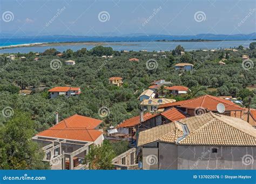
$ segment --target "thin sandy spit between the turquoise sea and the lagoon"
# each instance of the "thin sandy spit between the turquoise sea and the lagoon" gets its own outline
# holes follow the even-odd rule
[[[111,44],[110,44],[111,43]],[[115,44],[112,42],[56,42],[56,43],[31,43],[31,44],[18,44],[9,46],[0,46],[0,50],[9,48],[20,48],[20,47],[54,47],[54,46],[78,46],[78,45],[119,45],[119,46],[134,46],[138,44]]]

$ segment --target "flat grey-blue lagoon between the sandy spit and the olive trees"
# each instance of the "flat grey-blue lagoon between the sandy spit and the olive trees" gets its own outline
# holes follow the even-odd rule
[[[78,41],[78,40],[76,40]],[[225,41],[200,41],[200,42],[185,42],[185,41],[119,41],[119,42],[108,42],[104,43],[105,47],[112,47],[116,51],[126,50],[126,51],[171,51],[176,48],[177,45],[181,45],[185,48],[185,51],[193,51],[198,49],[218,49],[218,48],[231,48],[238,47],[242,45],[248,47],[250,43],[254,40],[225,40]],[[44,41],[42,40],[42,43]],[[14,43],[14,42],[12,42]],[[25,44],[16,43],[12,45]],[[31,44],[31,43],[29,43]],[[100,45],[100,43],[98,43]],[[0,43],[0,45],[4,45]],[[45,49],[54,47],[58,51],[63,52],[66,49],[72,49],[77,51],[80,48],[91,49],[97,44],[86,44],[86,45],[63,45],[63,46],[33,46],[33,47],[18,47],[18,48],[6,48],[0,50],[0,53],[29,53],[29,52],[44,52]]]

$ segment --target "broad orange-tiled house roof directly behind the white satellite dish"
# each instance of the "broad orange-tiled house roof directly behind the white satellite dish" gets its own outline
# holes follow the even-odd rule
[[[199,113],[199,111],[200,111],[200,114],[206,113],[209,111],[218,112],[217,105],[219,103],[224,104],[225,106],[224,114],[227,116],[241,117],[242,111],[244,111],[243,108],[233,103],[232,101],[225,100],[223,98],[219,98],[211,95],[203,95],[197,98],[192,98],[190,100],[184,100],[184,101],[179,101],[174,103],[166,103],[163,105],[159,105],[158,108],[169,109],[171,107],[176,107],[177,109],[184,111],[186,114],[190,116],[195,116]]]

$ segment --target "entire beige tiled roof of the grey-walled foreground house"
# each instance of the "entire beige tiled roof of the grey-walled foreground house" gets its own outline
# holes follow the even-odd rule
[[[188,131],[183,132],[182,126]],[[242,119],[208,112],[139,133],[138,146],[154,141],[183,145],[256,146],[256,129]]]

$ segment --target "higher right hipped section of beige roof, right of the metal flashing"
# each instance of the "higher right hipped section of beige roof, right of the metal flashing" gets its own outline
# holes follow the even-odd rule
[[[187,125],[189,134],[178,144],[256,146],[256,129],[239,118],[209,112],[179,122]]]

